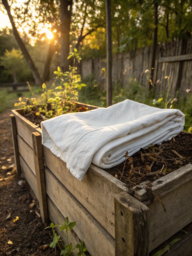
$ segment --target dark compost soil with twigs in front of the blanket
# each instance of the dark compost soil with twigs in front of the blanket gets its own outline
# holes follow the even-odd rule
[[[192,163],[192,134],[181,132],[170,141],[141,149],[131,157],[128,153],[126,162],[106,171],[132,188],[145,180],[154,181],[188,163]]]

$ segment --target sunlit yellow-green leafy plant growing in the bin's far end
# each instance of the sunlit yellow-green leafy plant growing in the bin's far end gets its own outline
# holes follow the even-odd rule
[[[60,68],[54,72],[56,75],[50,89],[46,84],[42,84],[42,94],[39,99],[36,97],[28,83],[29,90],[32,93],[32,98],[20,97],[19,102],[14,106],[21,106],[25,113],[33,113],[41,117],[43,120],[58,116],[61,114],[78,111],[75,102],[78,100],[78,90],[85,87],[85,84],[80,83],[81,76],[77,74],[75,60],[81,60],[77,49],[70,52],[68,58],[73,57],[73,66],[69,66],[69,71],[62,72]]]

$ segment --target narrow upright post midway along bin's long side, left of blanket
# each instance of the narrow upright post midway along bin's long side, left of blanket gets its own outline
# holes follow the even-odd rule
[[[45,187],[45,173],[43,164],[43,147],[41,144],[41,135],[38,132],[32,133],[33,155],[35,161],[35,172],[37,178],[37,188],[39,197],[39,208],[43,223],[48,222],[47,198]]]

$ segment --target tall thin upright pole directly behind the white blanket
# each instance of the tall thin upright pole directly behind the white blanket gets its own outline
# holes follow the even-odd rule
[[[112,105],[112,40],[111,40],[111,0],[106,0],[107,36],[107,107]]]

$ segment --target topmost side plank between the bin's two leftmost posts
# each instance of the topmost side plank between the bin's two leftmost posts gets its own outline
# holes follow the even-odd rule
[[[12,113],[16,118],[17,134],[19,134],[19,136],[32,148],[32,133],[38,132],[41,134],[41,128],[23,117],[20,114],[22,113],[22,110],[12,110]]]

